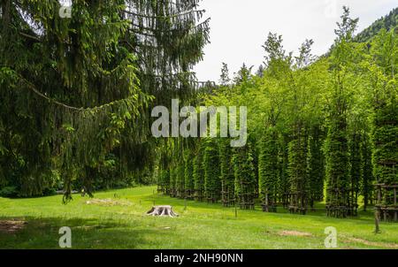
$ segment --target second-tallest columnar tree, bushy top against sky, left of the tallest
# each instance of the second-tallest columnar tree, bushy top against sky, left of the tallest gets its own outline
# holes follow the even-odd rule
[[[282,77],[290,72],[290,55],[286,55],[282,45],[282,37],[268,34],[263,48],[265,50],[265,71],[261,78],[260,89],[265,99],[262,101],[265,116],[260,125],[261,140],[258,146],[258,184],[259,194],[264,211],[276,211],[279,189],[279,133],[278,124],[283,106],[287,100],[287,82]]]

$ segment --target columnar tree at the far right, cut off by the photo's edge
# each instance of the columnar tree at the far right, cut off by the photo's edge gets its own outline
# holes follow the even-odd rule
[[[385,220],[398,220],[396,191],[398,186],[398,92],[395,72],[398,63],[398,37],[394,30],[382,30],[371,46],[373,107],[373,170],[378,184],[377,207]]]

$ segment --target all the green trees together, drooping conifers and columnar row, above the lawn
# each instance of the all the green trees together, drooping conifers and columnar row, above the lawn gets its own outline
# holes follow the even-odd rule
[[[398,9],[357,33],[345,6],[322,56],[316,40],[290,52],[269,33],[257,70],[231,74],[224,63],[218,81],[201,82],[193,67],[210,19],[200,2],[76,0],[65,19],[58,1],[2,1],[0,197],[60,193],[67,206],[77,195],[156,185],[185,209],[374,210],[398,222]],[[232,147],[231,132],[152,136],[151,111],[172,99],[247,107],[246,145]]]

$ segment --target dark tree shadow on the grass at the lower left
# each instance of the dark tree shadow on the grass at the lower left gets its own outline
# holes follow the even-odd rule
[[[58,231],[63,226],[72,230],[73,248],[134,249],[145,246],[148,242],[145,238],[165,234],[158,229],[134,229],[134,225],[112,219],[0,217],[0,222],[5,220],[25,221],[26,224],[18,231],[1,231],[0,249],[59,248],[62,234]]]

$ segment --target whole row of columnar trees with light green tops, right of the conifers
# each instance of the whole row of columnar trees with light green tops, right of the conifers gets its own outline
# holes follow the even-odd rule
[[[221,86],[201,104],[247,106],[248,145],[230,148],[227,140],[204,138],[176,146],[173,165],[194,171],[164,166],[161,189],[242,209],[253,208],[258,197],[264,211],[280,205],[301,214],[325,199],[328,216],[347,217],[356,215],[360,197],[366,209],[376,197],[374,184],[383,184],[377,204],[393,217],[396,29],[356,42],[358,19],[348,8],[341,19],[327,57],[311,55],[311,40],[294,56],[281,36],[269,34],[264,71],[252,75],[243,65],[231,83],[223,65]]]

